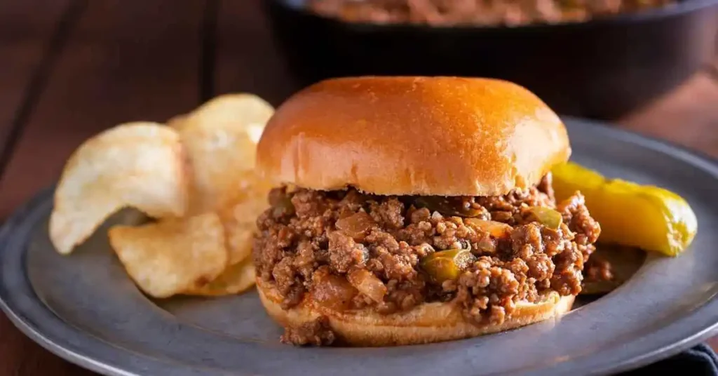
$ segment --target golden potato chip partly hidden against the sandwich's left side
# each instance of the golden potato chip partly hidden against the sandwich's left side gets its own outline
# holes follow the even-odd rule
[[[243,174],[238,188],[230,203],[218,210],[225,227],[229,265],[251,255],[256,219],[269,207],[267,195],[271,186],[254,171],[248,171]]]

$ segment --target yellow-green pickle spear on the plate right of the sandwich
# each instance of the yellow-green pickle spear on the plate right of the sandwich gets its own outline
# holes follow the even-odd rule
[[[684,198],[653,185],[607,179],[574,162],[557,165],[554,177],[556,200],[576,191],[601,225],[598,242],[638,247],[675,257],[693,241],[698,221]]]

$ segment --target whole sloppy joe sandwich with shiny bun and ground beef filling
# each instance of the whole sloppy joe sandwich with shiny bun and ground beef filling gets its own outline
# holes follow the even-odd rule
[[[276,110],[256,167],[274,180],[253,247],[258,292],[292,344],[391,346],[569,311],[600,234],[571,155],[526,88],[452,77],[337,78]]]

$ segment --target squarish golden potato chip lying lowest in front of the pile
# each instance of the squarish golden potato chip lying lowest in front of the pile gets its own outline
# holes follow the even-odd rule
[[[154,298],[207,285],[227,265],[224,229],[214,213],[113,226],[109,236],[127,273]]]

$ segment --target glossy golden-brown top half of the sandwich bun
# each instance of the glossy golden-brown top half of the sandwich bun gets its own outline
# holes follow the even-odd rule
[[[257,167],[278,183],[317,190],[496,196],[538,183],[570,154],[559,116],[514,83],[337,78],[279,106]]]

